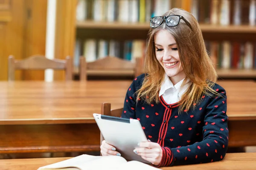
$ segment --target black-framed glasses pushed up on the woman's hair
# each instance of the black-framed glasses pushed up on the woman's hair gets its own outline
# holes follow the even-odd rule
[[[150,18],[150,27],[151,28],[157,28],[163,23],[163,20],[166,20],[167,26],[177,26],[180,23],[180,19],[183,19],[185,23],[192,29],[189,21],[187,21],[183,16],[181,15],[169,15],[169,16],[156,16]]]

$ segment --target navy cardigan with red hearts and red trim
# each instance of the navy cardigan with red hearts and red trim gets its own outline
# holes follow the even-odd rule
[[[195,109],[178,115],[179,104],[160,102],[147,104],[137,101],[145,74],[134,79],[125,96],[122,118],[138,119],[147,138],[160,144],[163,157],[159,167],[219,161],[224,158],[228,144],[227,97],[225,90],[215,84],[221,97],[203,95]]]

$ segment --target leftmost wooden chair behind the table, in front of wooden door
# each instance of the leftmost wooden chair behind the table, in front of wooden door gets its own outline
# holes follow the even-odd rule
[[[11,55],[8,58],[8,80],[15,80],[16,69],[64,69],[65,79],[72,80],[73,61],[67,56],[66,60],[50,60],[42,55],[34,55],[24,60],[15,60]]]

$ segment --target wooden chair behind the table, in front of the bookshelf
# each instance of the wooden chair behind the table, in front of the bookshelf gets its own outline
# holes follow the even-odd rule
[[[117,57],[107,56],[93,62],[86,62],[85,57],[80,57],[80,80],[87,80],[87,75],[134,75],[141,74],[142,59],[136,58],[136,62],[123,60]]]

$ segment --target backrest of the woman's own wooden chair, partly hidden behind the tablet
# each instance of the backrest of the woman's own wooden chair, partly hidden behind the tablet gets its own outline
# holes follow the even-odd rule
[[[123,110],[123,108],[111,109],[110,103],[102,103],[102,106],[101,106],[101,114],[102,115],[121,117],[122,110]],[[104,138],[102,136],[102,133],[100,133],[100,144],[102,144],[103,140],[104,140]]]

